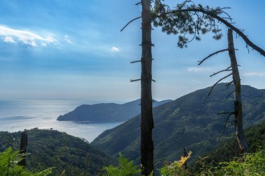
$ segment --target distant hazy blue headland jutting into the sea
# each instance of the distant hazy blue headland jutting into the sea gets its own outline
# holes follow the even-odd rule
[[[153,107],[172,102],[171,99],[153,100]],[[140,99],[125,104],[83,104],[74,111],[60,115],[59,121],[124,122],[140,113]]]

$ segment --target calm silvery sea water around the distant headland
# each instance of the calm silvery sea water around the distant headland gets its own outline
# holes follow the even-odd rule
[[[73,111],[82,102],[75,101],[0,101],[0,131],[22,131],[24,129],[56,129],[67,134],[93,141],[106,129],[121,123],[60,122],[59,115]]]

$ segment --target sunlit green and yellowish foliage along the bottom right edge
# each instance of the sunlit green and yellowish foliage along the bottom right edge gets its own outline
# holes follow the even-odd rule
[[[161,176],[222,176],[222,175],[265,175],[265,150],[255,153],[245,154],[245,157],[234,158],[229,162],[220,162],[217,166],[209,164],[209,157],[204,157],[197,161],[200,165],[199,172],[190,173],[180,164],[180,161],[165,163],[160,169]]]

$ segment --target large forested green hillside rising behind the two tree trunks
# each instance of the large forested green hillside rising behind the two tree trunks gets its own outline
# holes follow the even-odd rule
[[[183,148],[191,150],[194,158],[209,152],[216,145],[216,138],[223,129],[226,115],[222,111],[233,111],[234,100],[227,95],[232,92],[225,83],[205,98],[210,88],[197,90],[179,99],[153,109],[155,128],[153,131],[155,161],[174,161],[183,154]],[[265,120],[265,90],[242,86],[244,127],[257,125]],[[91,144],[116,156],[122,152],[139,162],[139,115],[122,125],[100,134]],[[231,134],[234,127],[229,127]]]

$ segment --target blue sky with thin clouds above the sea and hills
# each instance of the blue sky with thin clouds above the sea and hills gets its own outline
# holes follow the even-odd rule
[[[166,0],[170,6],[181,1]],[[194,1],[211,7],[231,7],[234,26],[265,49],[263,0]],[[141,15],[137,1],[124,0],[0,0],[0,99],[65,99],[86,102],[128,102],[140,97]],[[222,26],[222,24],[220,24]],[[212,86],[225,74],[209,77],[229,66],[227,53],[197,61],[227,48],[222,40],[202,35],[185,49],[176,35],[152,31],[153,98],[176,99]],[[241,82],[265,88],[265,58],[234,39]],[[225,81],[231,81],[232,78]]]

